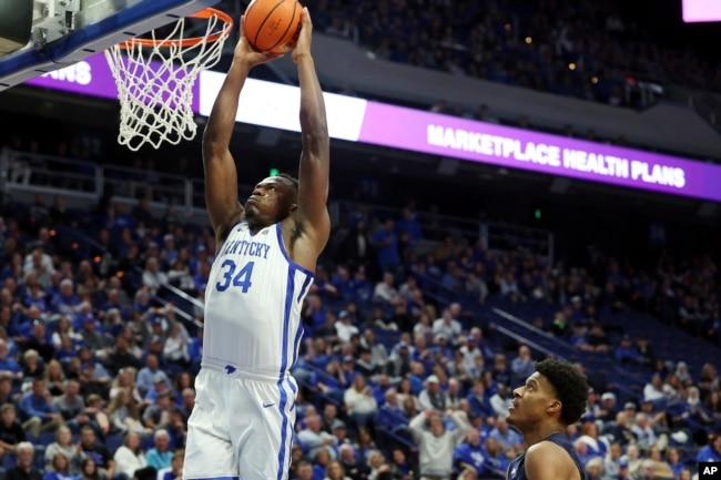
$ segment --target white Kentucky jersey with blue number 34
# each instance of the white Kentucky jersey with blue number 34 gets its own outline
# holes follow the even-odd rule
[[[253,234],[237,223],[216,253],[205,290],[203,365],[275,377],[297,358],[313,273],[293,262],[281,224]]]

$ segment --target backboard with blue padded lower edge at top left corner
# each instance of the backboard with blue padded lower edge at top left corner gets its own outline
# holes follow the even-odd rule
[[[0,91],[74,64],[220,0],[29,0],[30,42],[0,54]]]

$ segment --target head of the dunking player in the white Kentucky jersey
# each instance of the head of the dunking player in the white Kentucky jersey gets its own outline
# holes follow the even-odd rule
[[[245,215],[262,224],[273,224],[285,218],[295,206],[294,188],[283,177],[271,176],[261,181],[245,202]]]

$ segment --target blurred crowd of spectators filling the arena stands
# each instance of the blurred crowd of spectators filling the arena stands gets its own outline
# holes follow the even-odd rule
[[[719,85],[718,63],[612,2],[309,7],[318,31],[379,59],[620,108],[647,106],[628,89],[634,79]],[[439,113],[522,119],[441,98]],[[200,159],[110,159],[98,139],[69,132],[3,133],[3,177],[24,190],[0,197],[1,474],[176,479],[215,243],[162,175],[202,183]],[[82,180],[63,176],[63,159],[132,167],[78,202]],[[502,479],[525,448],[505,420],[512,389],[548,356],[588,376],[587,410],[567,433],[590,479],[691,479],[699,461],[721,461],[712,238],[611,227],[554,245],[522,218],[481,207],[459,218],[457,200],[436,197],[449,185],[418,180],[410,195],[392,176],[344,181],[355,190],[333,192],[334,232],[303,308],[292,479]]]

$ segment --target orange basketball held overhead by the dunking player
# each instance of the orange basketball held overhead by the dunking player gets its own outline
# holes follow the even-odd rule
[[[261,52],[286,52],[298,41],[302,14],[297,0],[253,0],[245,9],[245,37]]]

